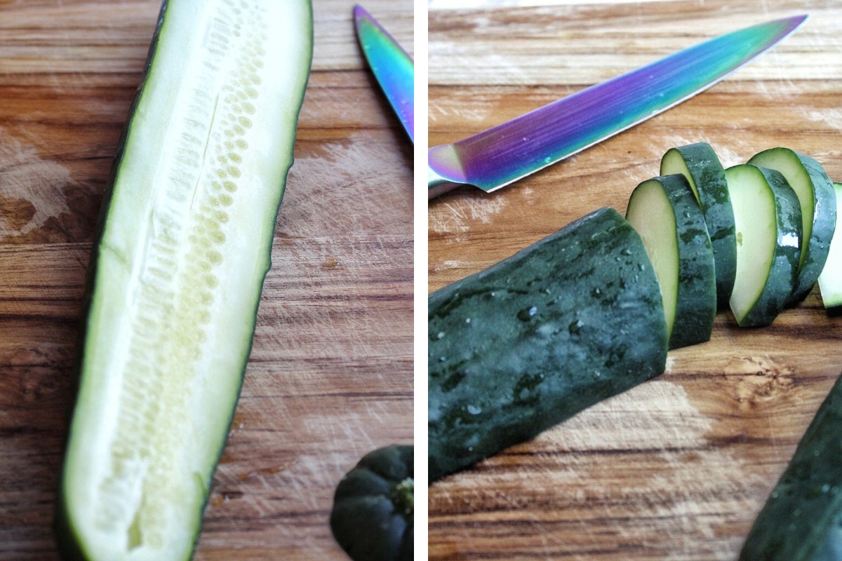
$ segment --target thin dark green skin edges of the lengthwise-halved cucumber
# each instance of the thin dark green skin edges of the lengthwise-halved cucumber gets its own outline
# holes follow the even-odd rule
[[[131,131],[132,125],[132,117],[136,112],[137,106],[141,101],[141,97],[143,94],[143,86],[147,82],[147,78],[149,77],[149,72],[152,68],[152,61],[154,59],[155,53],[158,49],[158,40],[160,39],[161,31],[163,29],[163,25],[166,18],[167,8],[170,3],[173,3],[176,0],[162,0],[161,8],[158,10],[157,14],[157,22],[155,25],[155,30],[152,33],[152,39],[150,40],[149,50],[147,51],[147,59],[144,62],[143,70],[141,71],[141,78],[138,82],[138,86],[134,95],[132,96],[131,103],[129,105],[128,110],[128,117],[126,119],[125,125],[123,130],[120,132],[120,139],[117,143],[117,148],[115,151],[115,157],[111,164],[111,169],[109,172],[109,180],[105,186],[104,193],[103,193],[103,200],[100,204],[99,214],[97,218],[97,223],[95,227],[95,234],[94,234],[94,241],[93,241],[93,249],[91,251],[91,257],[88,261],[88,267],[85,270],[85,278],[84,278],[84,291],[82,296],[82,322],[80,324],[80,330],[78,335],[77,341],[77,356],[74,359],[74,372],[77,374],[76,377],[73,379],[73,393],[78,394],[79,386],[81,383],[81,379],[79,374],[82,372],[82,360],[83,360],[83,353],[82,350],[84,348],[84,341],[88,331],[88,315],[93,303],[93,294],[96,288],[96,283],[94,282],[96,278],[96,270],[97,270],[97,263],[99,261],[99,247],[101,242],[103,241],[104,232],[105,232],[105,223],[106,219],[108,218],[109,214],[109,207],[111,204],[111,200],[114,196],[114,189],[115,189],[115,182],[117,178],[117,174],[120,171],[120,161],[123,160],[125,156],[125,142],[128,139],[129,133]],[[310,12],[310,29],[309,29],[309,49],[310,49],[310,60],[307,62],[307,76],[309,77],[310,71],[312,69],[312,45],[314,41],[314,31],[312,27],[312,2],[308,0],[307,2],[307,9]],[[301,98],[297,102],[297,106],[295,108],[295,118],[294,124],[297,127],[298,115],[301,110],[301,106],[304,103],[304,90],[305,87],[301,90]],[[279,155],[281,156],[281,155]],[[289,154],[282,155],[289,158],[290,166],[291,162],[293,161],[293,154],[290,152]],[[280,192],[280,196],[278,198],[277,207],[274,210],[274,221],[273,224],[277,223],[278,214],[280,213],[280,206],[283,201],[285,193],[285,188]],[[271,259],[271,247],[269,247],[269,251],[266,253],[266,262],[265,267],[261,271],[262,277],[260,278],[261,287],[265,281],[266,275],[269,273],[269,270],[272,266],[272,259]],[[262,288],[261,288],[262,292]],[[237,390],[237,396],[235,400],[235,404],[239,401],[239,393],[242,391],[242,382],[245,378],[246,367],[248,365],[248,356],[251,355],[252,345],[253,345],[253,330],[254,326],[257,325],[257,313],[258,313],[258,305],[259,302],[255,305],[254,308],[254,325],[252,326],[252,336],[249,337],[248,349],[246,349],[245,356],[247,360],[242,365],[242,372],[240,373],[240,385]],[[236,406],[236,405],[235,405]],[[75,405],[74,408],[75,409]],[[220,415],[227,415],[229,424],[233,421],[235,410],[232,409],[231,411],[221,411]],[[72,425],[72,413],[73,410],[68,412],[67,417],[67,426]],[[65,438],[65,453],[64,457],[67,457],[67,447],[70,444],[70,431],[67,432],[67,436]],[[216,464],[219,463],[219,460],[222,457],[222,453],[225,451],[225,446],[227,442],[227,435],[224,435],[219,447],[219,450],[216,453],[217,460]],[[64,470],[64,466],[62,465],[62,471]],[[214,469],[216,471],[216,469]],[[205,494],[205,501],[202,505],[202,512],[207,508],[208,501],[210,500],[210,485],[212,483],[213,476],[205,481],[205,489],[209,492]],[[59,488],[56,492],[56,507],[55,513],[53,516],[53,533],[56,537],[56,545],[58,548],[58,553],[63,561],[94,561],[93,558],[84,548],[82,540],[80,540],[79,535],[77,533],[76,528],[74,527],[73,521],[67,516],[67,506],[66,497],[64,495],[64,490],[62,489],[63,486],[63,479],[60,477],[58,481]],[[200,522],[201,522],[200,517]],[[195,537],[193,546],[190,549],[190,554],[184,561],[189,561],[190,558],[193,557],[195,553],[195,549],[199,545],[199,540],[201,537],[201,527],[197,527],[195,531]]]

